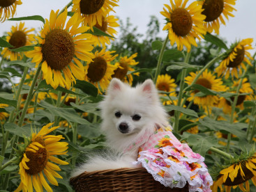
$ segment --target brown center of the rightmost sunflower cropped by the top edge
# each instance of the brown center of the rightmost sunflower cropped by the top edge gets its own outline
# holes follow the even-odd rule
[[[213,22],[215,19],[220,17],[223,13],[224,1],[223,0],[206,0],[202,6],[204,9],[202,14],[206,16],[205,22]]]

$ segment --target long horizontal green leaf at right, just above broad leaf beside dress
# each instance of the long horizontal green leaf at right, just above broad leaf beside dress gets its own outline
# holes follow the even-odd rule
[[[203,120],[199,119],[199,122],[204,126],[208,127],[209,129],[213,131],[227,131],[231,134],[234,134],[238,136],[241,139],[246,138],[246,132],[243,131],[242,129],[248,127],[246,123],[234,123],[231,124],[227,121],[224,120],[213,120],[211,118],[204,118]]]

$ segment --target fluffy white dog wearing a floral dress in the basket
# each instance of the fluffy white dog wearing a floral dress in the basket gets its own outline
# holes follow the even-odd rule
[[[190,191],[211,191],[204,157],[172,134],[153,81],[131,88],[112,79],[100,109],[110,152],[91,156],[73,177],[84,171],[143,166],[165,186],[183,188],[188,183]]]

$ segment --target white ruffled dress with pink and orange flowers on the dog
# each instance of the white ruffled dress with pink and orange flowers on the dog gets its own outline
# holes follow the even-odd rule
[[[211,191],[213,180],[204,157],[193,152],[186,143],[181,143],[172,134],[171,127],[158,127],[140,146],[135,164],[140,163],[165,186],[183,188],[188,182],[190,192]]]

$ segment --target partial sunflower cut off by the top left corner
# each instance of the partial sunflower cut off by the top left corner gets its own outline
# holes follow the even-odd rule
[[[20,0],[5,0],[0,1],[0,22],[4,22],[16,12],[17,5],[21,5],[22,1]]]

